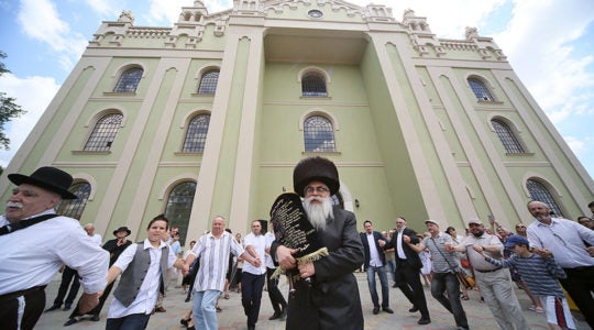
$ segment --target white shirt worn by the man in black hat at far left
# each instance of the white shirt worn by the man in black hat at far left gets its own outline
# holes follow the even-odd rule
[[[7,223],[1,216],[0,227]],[[78,272],[85,293],[106,287],[109,253],[89,240],[76,219],[55,217],[0,235],[0,295],[47,285],[64,264]]]

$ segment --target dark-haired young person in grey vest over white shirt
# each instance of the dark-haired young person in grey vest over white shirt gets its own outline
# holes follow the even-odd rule
[[[163,293],[167,270],[184,270],[167,243],[162,241],[169,222],[157,216],[146,228],[143,243],[128,246],[109,268],[108,284],[122,274],[109,306],[106,330],[142,330],[155,307],[158,293]]]

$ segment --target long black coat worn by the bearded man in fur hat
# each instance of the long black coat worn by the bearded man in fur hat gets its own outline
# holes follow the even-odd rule
[[[363,311],[353,272],[365,258],[352,212],[333,207],[334,219],[326,221],[318,240],[329,255],[314,262],[311,284],[295,283],[295,296],[288,299],[286,329],[363,329]],[[276,256],[273,242],[271,255]],[[298,271],[294,271],[297,272]]]

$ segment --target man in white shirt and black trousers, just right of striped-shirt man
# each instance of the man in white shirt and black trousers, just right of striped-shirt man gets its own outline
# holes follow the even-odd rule
[[[257,261],[257,265],[243,265],[241,273],[241,304],[248,316],[249,330],[255,329],[260,316],[262,289],[264,280],[266,280],[266,265],[263,262],[266,253],[266,239],[261,231],[262,224],[258,220],[254,220],[252,221],[252,232],[243,238],[245,251]]]

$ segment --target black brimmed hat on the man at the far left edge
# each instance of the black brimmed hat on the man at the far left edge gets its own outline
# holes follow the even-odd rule
[[[22,174],[9,174],[8,178],[16,186],[30,184],[56,193],[64,199],[78,198],[76,195],[68,191],[68,188],[73,185],[73,176],[55,167],[40,167],[33,172],[31,176]]]

